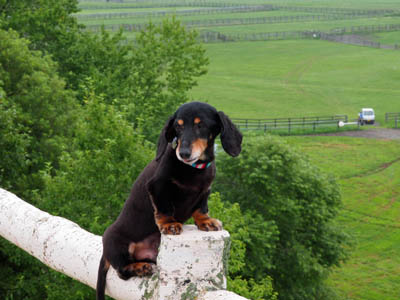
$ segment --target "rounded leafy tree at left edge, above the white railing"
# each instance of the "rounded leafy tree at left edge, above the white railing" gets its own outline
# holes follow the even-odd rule
[[[45,163],[57,165],[76,108],[50,57],[28,45],[0,29],[0,180],[25,199],[41,187]]]

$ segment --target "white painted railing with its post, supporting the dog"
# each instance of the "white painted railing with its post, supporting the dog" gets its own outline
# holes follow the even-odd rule
[[[52,216],[0,188],[0,235],[44,264],[95,288],[101,237]],[[150,278],[121,280],[110,268],[106,294],[115,299],[245,299],[226,288],[227,231],[184,226],[179,236],[162,235],[157,271]]]

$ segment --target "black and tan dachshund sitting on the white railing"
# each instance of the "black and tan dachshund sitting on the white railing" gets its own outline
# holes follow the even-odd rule
[[[121,214],[103,235],[97,299],[104,299],[110,265],[122,279],[152,274],[161,233],[180,234],[190,217],[200,230],[222,229],[220,221],[208,216],[207,205],[219,134],[224,150],[239,155],[242,135],[214,107],[191,102],[169,118],[156,158],[139,175]]]

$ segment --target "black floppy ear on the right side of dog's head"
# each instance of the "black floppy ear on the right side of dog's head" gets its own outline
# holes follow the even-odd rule
[[[218,112],[218,116],[221,122],[222,148],[230,156],[238,156],[242,150],[242,134],[222,111]]]

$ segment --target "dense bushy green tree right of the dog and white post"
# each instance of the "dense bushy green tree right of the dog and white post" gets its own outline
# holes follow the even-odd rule
[[[222,197],[251,211],[253,226],[269,222],[266,234],[271,224],[279,232],[268,245],[250,231],[243,276],[271,276],[281,299],[325,297],[323,280],[345,255],[345,235],[333,222],[341,203],[335,182],[268,136],[249,138],[239,158],[221,154],[217,162]]]

